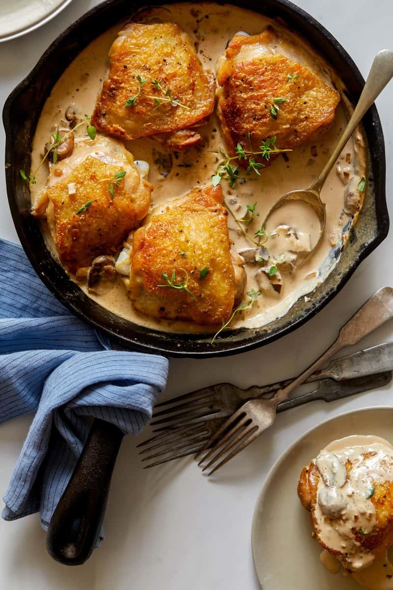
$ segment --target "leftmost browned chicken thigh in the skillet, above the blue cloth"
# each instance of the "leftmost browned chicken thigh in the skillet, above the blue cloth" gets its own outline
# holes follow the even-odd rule
[[[118,140],[97,135],[76,143],[71,156],[51,165],[44,194],[62,263],[75,273],[114,253],[146,216],[152,188]]]

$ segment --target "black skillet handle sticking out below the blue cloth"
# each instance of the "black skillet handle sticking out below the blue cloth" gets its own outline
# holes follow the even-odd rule
[[[122,439],[119,428],[94,419],[74,473],[49,523],[47,550],[56,561],[81,565],[93,552]]]

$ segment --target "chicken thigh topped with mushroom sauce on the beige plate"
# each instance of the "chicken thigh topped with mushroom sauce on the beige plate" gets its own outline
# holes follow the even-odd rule
[[[321,451],[299,478],[298,496],[312,514],[318,542],[352,571],[367,568],[393,544],[393,448],[378,442]],[[329,461],[330,476],[323,467]]]

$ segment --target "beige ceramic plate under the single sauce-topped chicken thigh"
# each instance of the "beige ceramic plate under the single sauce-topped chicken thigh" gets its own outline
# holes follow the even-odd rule
[[[393,442],[393,408],[363,408],[322,422],[278,458],[257,500],[251,532],[255,571],[263,590],[360,590],[352,578],[329,573],[311,536],[311,514],[298,499],[300,471],[326,444],[351,434]]]

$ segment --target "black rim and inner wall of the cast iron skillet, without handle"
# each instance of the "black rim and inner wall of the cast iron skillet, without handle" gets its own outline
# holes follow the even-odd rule
[[[143,5],[154,5],[156,2],[157,0],[147,0]],[[171,4],[171,0],[168,4]],[[235,1],[232,4],[237,3]],[[269,17],[283,19],[290,27],[299,31],[340,73],[351,100],[358,99],[364,84],[358,68],[344,48],[319,22],[288,0],[239,0],[238,4]],[[121,346],[170,356],[202,358],[230,355],[265,345],[295,330],[318,313],[342,289],[359,263],[388,234],[385,148],[377,109],[372,107],[364,118],[369,144],[369,181],[364,209],[358,223],[351,230],[341,259],[329,277],[312,293],[310,301],[305,302],[302,297],[290,312],[270,323],[267,329],[265,326],[263,330],[236,330],[217,339],[214,346],[210,345],[211,335],[168,335],[128,322],[87,297],[52,258],[42,238],[39,222],[29,215],[29,190],[18,171],[28,170],[30,167],[29,150],[39,114],[52,86],[65,68],[95,37],[128,17],[141,5],[130,0],[108,0],[91,9],[52,43],[31,74],[16,87],[6,101],[3,113],[6,131],[6,185],[19,240],[48,289],[72,313],[106,332]]]

